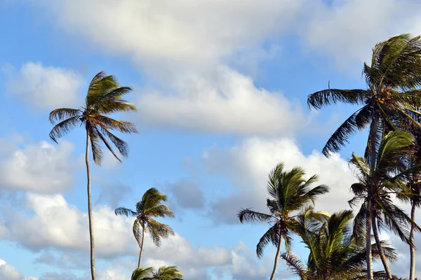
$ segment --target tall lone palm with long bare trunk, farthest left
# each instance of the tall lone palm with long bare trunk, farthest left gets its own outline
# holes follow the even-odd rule
[[[91,144],[93,161],[100,165],[102,148],[105,144],[114,157],[121,161],[114,152],[109,141],[116,146],[119,153],[126,157],[128,145],[116,137],[111,131],[122,133],[137,133],[133,123],[124,120],[109,118],[109,114],[119,111],[136,111],[136,106],[126,102],[122,97],[131,91],[130,87],[121,87],[114,76],[107,76],[104,72],[98,73],[91,81],[86,94],[85,105],[81,109],[60,108],[50,113],[50,122],[55,125],[50,132],[50,138],[58,143],[60,137],[65,136],[76,125],[83,125],[86,130],[86,174],[88,177],[88,217],[89,235],[91,241],[91,275],[95,280],[95,243],[93,238],[93,218],[91,207],[91,172],[89,166],[89,146]],[[57,123],[57,124],[56,124]]]

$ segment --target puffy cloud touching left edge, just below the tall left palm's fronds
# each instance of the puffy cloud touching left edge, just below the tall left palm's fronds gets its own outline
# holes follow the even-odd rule
[[[60,193],[73,183],[74,145],[62,141],[53,146],[46,141],[15,147],[0,161],[0,183],[3,188],[31,190],[36,193]]]

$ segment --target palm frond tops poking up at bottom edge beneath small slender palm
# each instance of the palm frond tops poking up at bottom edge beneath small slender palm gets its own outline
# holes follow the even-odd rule
[[[133,271],[131,280],[182,280],[182,273],[176,266],[161,266],[158,270],[152,267],[138,267]]]

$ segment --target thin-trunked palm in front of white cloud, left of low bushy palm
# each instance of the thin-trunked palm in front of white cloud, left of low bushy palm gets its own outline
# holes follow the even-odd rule
[[[270,280],[273,280],[276,274],[282,239],[285,242],[286,251],[289,252],[290,230],[294,228],[295,223],[294,218],[290,216],[291,212],[298,211],[309,202],[314,204],[318,195],[328,193],[328,187],[324,185],[310,188],[310,185],[317,181],[316,175],[308,180],[304,177],[305,172],[301,167],[294,167],[286,172],[283,170],[283,163],[279,163],[270,172],[267,181],[267,192],[271,196],[270,199],[267,199],[267,208],[270,214],[263,214],[251,209],[241,209],[238,214],[241,223],[266,221],[272,225],[260,238],[256,248],[258,258],[262,258],[263,249],[269,242],[277,247]]]

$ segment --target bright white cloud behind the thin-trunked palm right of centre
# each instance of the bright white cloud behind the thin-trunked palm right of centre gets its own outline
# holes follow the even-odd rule
[[[319,183],[330,186],[330,193],[316,201],[317,209],[330,212],[348,208],[349,187],[356,179],[348,163],[338,155],[325,158],[318,151],[304,155],[290,139],[247,139],[230,148],[209,148],[203,154],[209,174],[227,176],[236,189],[218,198],[211,208],[217,221],[238,223],[240,208],[265,210],[267,174],[278,162],[286,169],[300,166],[308,176],[319,175]],[[316,185],[314,185],[316,186]]]

